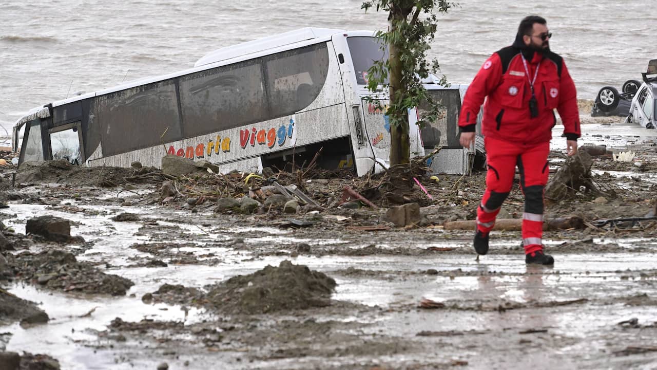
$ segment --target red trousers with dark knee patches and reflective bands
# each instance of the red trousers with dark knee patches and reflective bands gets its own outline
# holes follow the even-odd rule
[[[543,250],[543,192],[549,169],[550,143],[522,145],[484,138],[486,146],[486,192],[477,210],[477,228],[489,232],[495,217],[513,186],[516,166],[520,172],[520,189],[525,196],[522,214],[522,245],[525,253]]]

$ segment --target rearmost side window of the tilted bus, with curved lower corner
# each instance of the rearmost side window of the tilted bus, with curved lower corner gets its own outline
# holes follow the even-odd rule
[[[321,92],[328,74],[326,43],[319,43],[265,59],[271,118],[301,111]]]

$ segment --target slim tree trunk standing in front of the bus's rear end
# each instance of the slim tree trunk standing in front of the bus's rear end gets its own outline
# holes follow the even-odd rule
[[[397,11],[395,11],[397,10]],[[390,32],[398,32],[397,24],[405,22],[409,11],[407,9],[394,9],[390,14]],[[401,86],[402,79],[402,62],[399,59],[399,47],[394,42],[389,45],[389,61],[390,61],[390,106],[401,107],[403,100],[403,86]],[[401,163],[409,163],[410,160],[410,141],[409,141],[409,119],[406,109],[399,111],[399,109],[388,110],[388,115],[394,117],[392,122],[397,124],[390,125],[390,166],[399,165]]]

